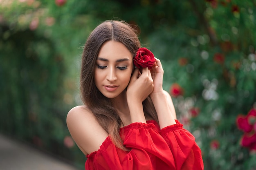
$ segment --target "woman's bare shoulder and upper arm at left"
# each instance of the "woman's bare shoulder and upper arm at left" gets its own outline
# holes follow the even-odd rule
[[[86,106],[76,106],[67,114],[67,128],[80,150],[85,154],[97,151],[108,133],[101,128]]]

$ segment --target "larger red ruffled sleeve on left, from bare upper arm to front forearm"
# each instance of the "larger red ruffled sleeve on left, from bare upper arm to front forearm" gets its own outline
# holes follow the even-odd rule
[[[86,170],[175,170],[171,150],[154,124],[133,123],[121,129],[124,146],[117,148],[109,137],[97,152],[88,155]]]

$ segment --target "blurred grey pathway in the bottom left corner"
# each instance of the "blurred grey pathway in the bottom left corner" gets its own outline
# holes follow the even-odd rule
[[[0,134],[0,170],[77,170],[68,163]]]

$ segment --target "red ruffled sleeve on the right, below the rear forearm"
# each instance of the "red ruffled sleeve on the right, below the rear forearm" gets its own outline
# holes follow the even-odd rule
[[[201,150],[195,137],[175,120],[176,124],[160,130],[160,135],[167,142],[173,154],[176,170],[203,170]]]

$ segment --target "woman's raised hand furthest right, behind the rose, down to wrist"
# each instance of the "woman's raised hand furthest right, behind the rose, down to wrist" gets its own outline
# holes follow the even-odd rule
[[[155,65],[151,68],[151,76],[153,79],[154,84],[154,90],[150,94],[150,96],[157,94],[157,93],[163,93],[163,76],[164,76],[164,70],[162,68],[162,64],[159,59],[155,58]]]

